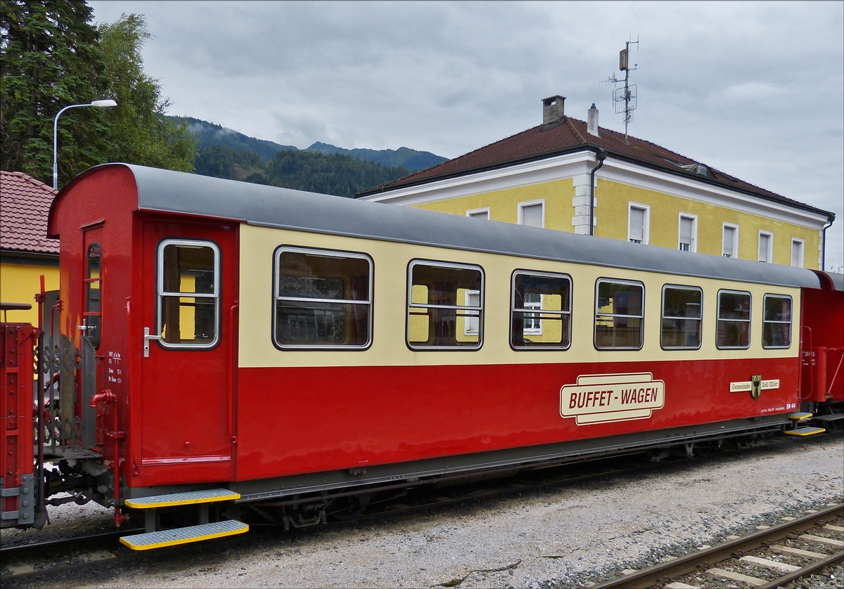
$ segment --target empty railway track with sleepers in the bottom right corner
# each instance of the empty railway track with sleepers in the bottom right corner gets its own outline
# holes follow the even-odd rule
[[[776,589],[844,561],[842,523],[844,505],[835,505],[648,569],[625,571],[594,589],[695,589],[715,580]]]

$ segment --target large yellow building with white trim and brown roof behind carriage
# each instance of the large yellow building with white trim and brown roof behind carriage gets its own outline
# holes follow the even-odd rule
[[[591,225],[592,235],[618,240],[822,267],[835,213],[654,143],[625,141],[598,127],[594,105],[583,122],[565,116],[564,104],[563,96],[544,99],[541,125],[358,197],[581,234]]]

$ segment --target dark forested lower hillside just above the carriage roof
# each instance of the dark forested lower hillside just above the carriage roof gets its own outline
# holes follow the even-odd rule
[[[343,154],[282,150],[264,162],[255,151],[236,151],[227,145],[200,149],[196,171],[203,176],[322,192],[338,197],[354,197],[356,192],[408,175],[406,168],[387,167]]]

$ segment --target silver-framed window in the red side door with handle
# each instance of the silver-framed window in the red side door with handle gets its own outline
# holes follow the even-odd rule
[[[158,328],[165,348],[213,348],[219,338],[219,248],[164,240],[158,259]]]

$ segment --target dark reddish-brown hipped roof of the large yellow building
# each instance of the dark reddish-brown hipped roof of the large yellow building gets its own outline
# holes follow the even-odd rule
[[[490,143],[480,149],[475,149],[468,154],[444,161],[427,170],[419,170],[410,176],[404,176],[398,180],[387,182],[382,186],[361,192],[359,196],[375,194],[376,192],[387,192],[404,186],[425,184],[426,182],[446,177],[468,175],[484,169],[505,167],[506,165],[514,165],[522,161],[543,159],[566,152],[581,151],[582,149],[603,149],[607,154],[623,159],[630,159],[640,164],[658,167],[661,170],[667,170],[684,176],[691,176],[696,180],[711,182],[737,189],[741,192],[749,192],[767,200],[822,213],[830,217],[833,215],[829,211],[814,208],[811,205],[783,197],[776,194],[776,192],[754,186],[749,182],[724,174],[720,170],[715,170],[708,165],[706,165],[706,168],[709,170],[707,176],[701,176],[695,173],[694,170],[685,170],[681,166],[692,166],[701,164],[701,162],[669,151],[656,143],[635,137],[630,137],[630,143],[625,143],[624,133],[611,131],[603,127],[600,127],[598,132],[600,134],[599,137],[590,135],[587,133],[586,122],[566,116],[565,120],[556,126],[538,125],[532,127],[527,129],[527,131],[522,131],[516,135],[511,135],[511,137]]]

